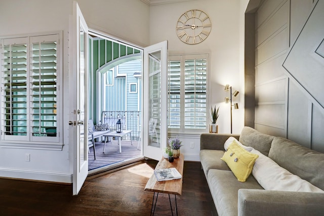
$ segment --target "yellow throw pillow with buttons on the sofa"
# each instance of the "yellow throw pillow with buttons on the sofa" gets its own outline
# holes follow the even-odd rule
[[[240,147],[234,140],[221,159],[227,163],[239,182],[245,182],[258,157],[259,155],[252,154]]]

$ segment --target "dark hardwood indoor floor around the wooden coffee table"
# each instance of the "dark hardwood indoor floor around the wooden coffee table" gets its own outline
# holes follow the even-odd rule
[[[89,177],[77,196],[71,185],[0,179],[0,215],[150,215],[153,193],[144,187],[156,163]],[[179,215],[217,215],[200,163],[185,162],[183,176]],[[154,215],[171,215],[168,195],[158,196]]]

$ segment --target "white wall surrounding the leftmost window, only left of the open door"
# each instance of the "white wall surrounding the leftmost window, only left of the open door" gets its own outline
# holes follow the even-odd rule
[[[63,30],[63,44],[66,44],[68,20],[71,12],[72,3],[64,0],[1,1],[0,35],[23,35]],[[64,47],[66,48],[65,45]],[[63,76],[67,76],[67,52],[64,52],[63,58]],[[65,83],[68,83],[67,81],[64,80]],[[64,106],[68,104],[65,103],[66,99],[63,101]],[[68,107],[66,108],[68,109]],[[67,112],[65,112],[65,116],[66,114]],[[28,147],[0,148],[0,176],[70,182],[71,171],[69,169],[67,135],[68,133],[63,134],[65,146],[63,146],[62,151]],[[30,154],[30,162],[25,161],[25,154]]]

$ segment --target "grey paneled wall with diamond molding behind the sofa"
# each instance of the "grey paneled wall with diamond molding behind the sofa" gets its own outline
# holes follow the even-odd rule
[[[265,0],[255,12],[255,128],[324,152],[322,5]]]

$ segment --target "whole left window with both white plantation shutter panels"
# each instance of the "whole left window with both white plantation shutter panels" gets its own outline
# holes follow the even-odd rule
[[[1,39],[1,140],[59,142],[59,34]]]

